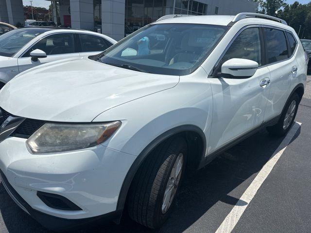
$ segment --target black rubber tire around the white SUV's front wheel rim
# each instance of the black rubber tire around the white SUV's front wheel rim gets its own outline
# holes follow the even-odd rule
[[[173,195],[168,210],[162,213],[164,192],[174,163],[182,153],[181,177],[178,184],[175,185],[178,191],[185,173],[187,151],[186,140],[180,136],[173,137],[161,143],[143,161],[133,179],[127,200],[128,213],[134,221],[152,229],[164,224],[169,217],[176,197]]]

